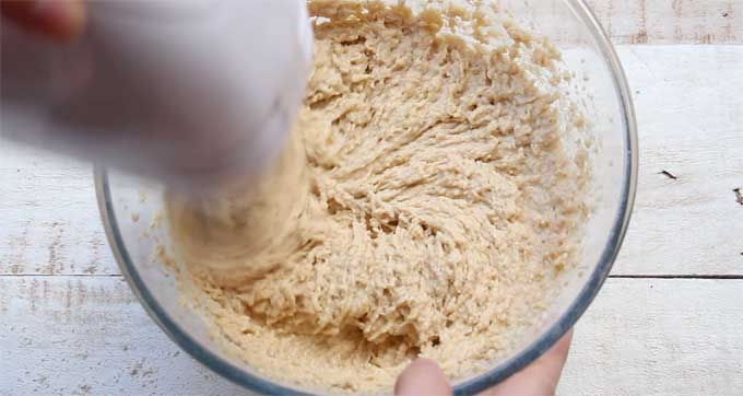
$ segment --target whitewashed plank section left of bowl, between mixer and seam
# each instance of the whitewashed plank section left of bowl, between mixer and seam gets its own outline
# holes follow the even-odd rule
[[[0,140],[0,273],[120,273],[90,165]]]

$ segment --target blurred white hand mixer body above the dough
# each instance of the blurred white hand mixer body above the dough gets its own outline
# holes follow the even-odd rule
[[[87,15],[71,44],[3,23],[0,137],[188,190],[281,153],[311,66],[304,0],[90,1]]]

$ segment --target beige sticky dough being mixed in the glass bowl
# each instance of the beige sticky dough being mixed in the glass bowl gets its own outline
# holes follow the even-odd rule
[[[315,70],[259,187],[169,198],[219,337],[274,378],[370,391],[509,352],[576,261],[570,74],[497,9],[312,1]],[[567,153],[571,154],[568,155]]]

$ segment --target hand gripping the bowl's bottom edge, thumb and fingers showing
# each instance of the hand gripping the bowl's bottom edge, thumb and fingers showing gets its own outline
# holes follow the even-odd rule
[[[531,365],[514,374],[503,383],[483,392],[484,396],[554,395],[563,365],[570,349],[573,330],[569,330],[552,349]],[[451,395],[451,385],[441,369],[428,359],[411,363],[394,384],[398,396]]]

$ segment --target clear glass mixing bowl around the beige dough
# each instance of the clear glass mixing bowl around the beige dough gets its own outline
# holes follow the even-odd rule
[[[457,394],[483,391],[523,369],[573,327],[599,292],[624,237],[637,178],[637,136],[629,90],[612,45],[582,0],[504,0],[516,20],[550,36],[568,67],[582,77],[583,94],[597,108],[592,115],[598,142],[593,158],[591,199],[595,205],[586,224],[578,268],[541,322],[526,331],[509,356],[488,370],[453,384]],[[184,350],[211,370],[267,394],[307,393],[258,372],[226,353],[210,337],[205,319],[181,302],[173,268],[164,265],[167,246],[162,187],[128,176],[95,171],[101,216],[114,255],[142,305]]]

